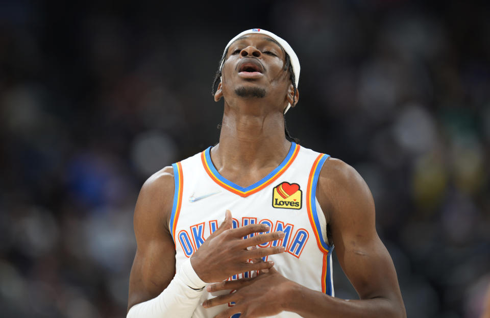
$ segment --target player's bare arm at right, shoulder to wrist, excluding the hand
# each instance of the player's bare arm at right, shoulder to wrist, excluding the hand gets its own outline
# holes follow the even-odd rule
[[[335,251],[360,300],[341,300],[296,285],[292,311],[304,317],[405,317],[395,266],[375,228],[375,208],[364,180],[336,159],[325,162],[317,199],[326,211]],[[309,306],[311,304],[311,306]]]

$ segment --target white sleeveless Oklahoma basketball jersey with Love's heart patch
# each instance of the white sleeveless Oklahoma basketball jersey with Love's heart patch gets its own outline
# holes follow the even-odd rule
[[[218,228],[225,211],[230,210],[234,228],[263,223],[270,231],[283,231],[283,239],[259,246],[284,246],[284,253],[268,256],[267,260],[273,260],[284,277],[333,296],[333,246],[327,244],[325,216],[315,197],[318,175],[329,156],[292,142],[276,169],[244,188],[219,175],[211,162],[210,150],[211,147],[173,164],[175,194],[169,228],[176,247],[176,270]],[[241,273],[230,279],[255,275]],[[192,317],[210,318],[233,306],[206,309],[201,305],[227,292],[230,291],[205,291]],[[299,315],[282,312],[275,317]]]

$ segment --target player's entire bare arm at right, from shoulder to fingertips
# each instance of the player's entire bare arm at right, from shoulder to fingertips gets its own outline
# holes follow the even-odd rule
[[[235,312],[249,318],[281,311],[303,317],[406,317],[395,267],[376,233],[373,198],[359,174],[340,160],[327,160],[316,198],[325,211],[340,265],[360,300],[325,295],[284,278],[272,268],[254,279],[208,286],[209,291],[237,290],[204,303],[205,307],[237,303],[216,318]]]

